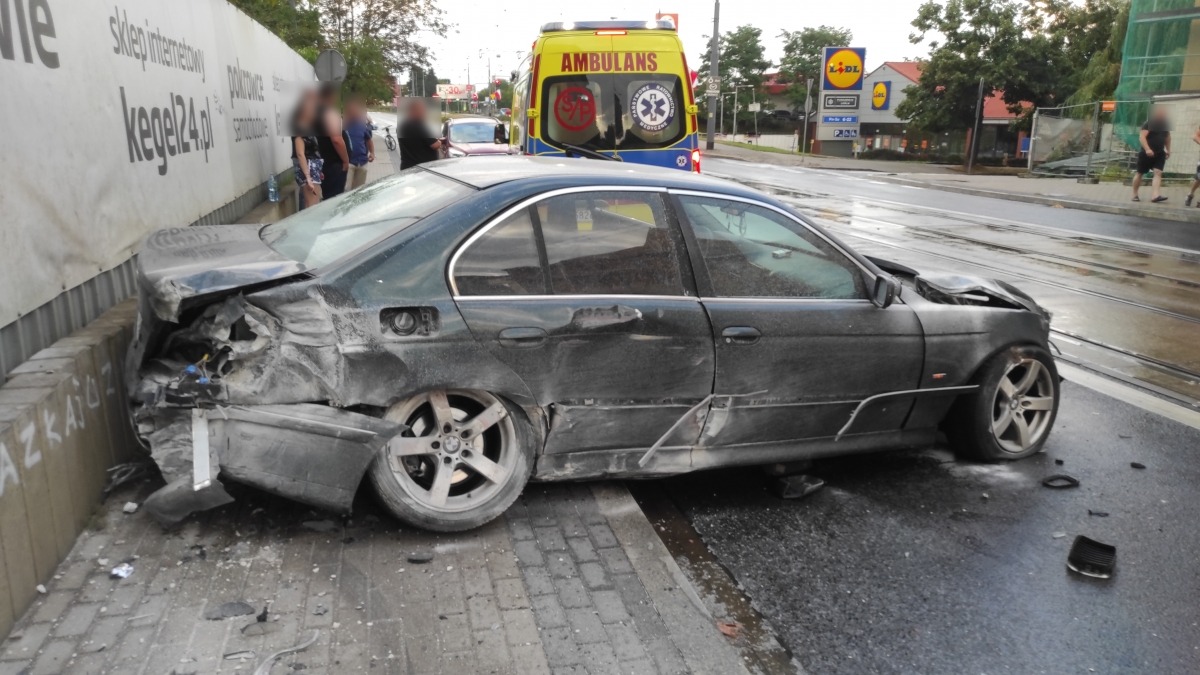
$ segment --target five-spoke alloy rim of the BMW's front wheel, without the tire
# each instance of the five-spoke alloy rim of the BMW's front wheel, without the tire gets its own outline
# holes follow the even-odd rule
[[[1021,453],[1040,442],[1050,428],[1055,395],[1050,370],[1042,362],[1009,364],[992,402],[991,432],[1001,448]]]

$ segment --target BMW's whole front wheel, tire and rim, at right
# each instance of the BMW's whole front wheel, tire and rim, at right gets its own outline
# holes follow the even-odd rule
[[[1040,347],[1012,347],[984,364],[974,383],[979,389],[959,399],[947,420],[954,452],[983,461],[1042,452],[1058,414],[1054,358]]]

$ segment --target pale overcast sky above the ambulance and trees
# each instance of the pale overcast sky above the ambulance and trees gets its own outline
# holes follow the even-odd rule
[[[778,65],[782,55],[781,30],[832,25],[850,28],[854,43],[866,48],[866,70],[883,61],[923,56],[924,46],[908,42],[913,17],[923,0],[725,0],[721,2],[721,32],[743,24],[762,29],[767,59]],[[487,82],[488,58],[493,74],[508,74],[520,65],[518,52],[528,53],[546,22],[588,19],[653,19],[655,12],[679,14],[683,38],[692,68],[706,52],[704,36],[713,30],[713,5],[709,0],[607,0],[575,5],[548,0],[437,0],[454,24],[445,38],[430,35],[424,42],[433,53],[438,77],[456,84],[467,83],[467,70],[474,84]],[[589,8],[593,7],[593,8]]]

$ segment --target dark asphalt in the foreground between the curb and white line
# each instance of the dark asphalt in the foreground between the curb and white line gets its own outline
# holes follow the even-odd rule
[[[757,470],[666,489],[809,673],[1196,673],[1200,431],[1063,394],[1045,453],[1015,464],[824,460],[802,501]],[[1060,472],[1081,485],[1042,486]],[[1117,546],[1112,579],[1067,571],[1076,534]]]

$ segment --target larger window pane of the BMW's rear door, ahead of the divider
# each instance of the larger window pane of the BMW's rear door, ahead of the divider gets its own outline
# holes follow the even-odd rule
[[[554,294],[686,294],[660,195],[578,192],[535,209]]]

